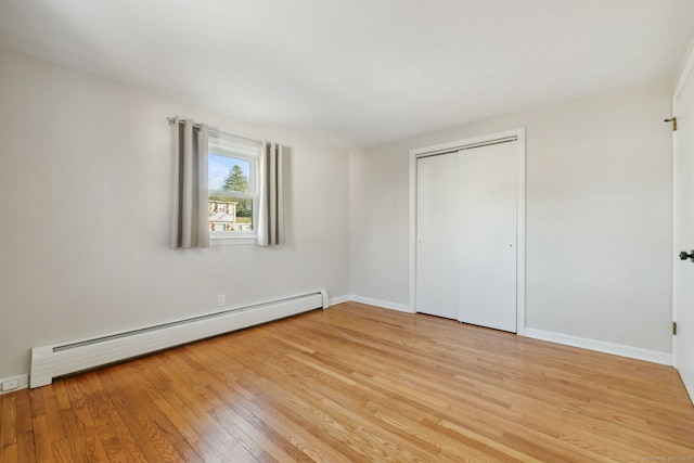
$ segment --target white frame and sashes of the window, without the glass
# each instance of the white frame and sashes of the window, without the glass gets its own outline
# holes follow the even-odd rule
[[[255,244],[258,239],[258,207],[260,197],[260,153],[262,143],[234,137],[222,132],[210,132],[208,139],[207,156],[210,155],[229,157],[249,165],[248,189],[249,193],[235,192],[229,190],[211,190],[208,185],[207,196],[217,196],[233,202],[235,200],[252,201],[252,226],[249,231],[211,231],[208,228],[209,242],[211,245],[226,244]],[[209,167],[207,175],[209,176]],[[209,221],[208,221],[209,223]]]

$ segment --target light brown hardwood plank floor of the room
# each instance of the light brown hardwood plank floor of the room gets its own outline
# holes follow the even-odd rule
[[[347,303],[0,396],[0,461],[694,461],[694,407],[671,368]]]

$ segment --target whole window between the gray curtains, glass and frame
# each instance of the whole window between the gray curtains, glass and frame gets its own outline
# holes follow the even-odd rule
[[[210,237],[255,236],[260,143],[210,132],[208,153]]]

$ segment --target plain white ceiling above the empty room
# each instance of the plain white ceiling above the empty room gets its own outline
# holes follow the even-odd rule
[[[674,78],[693,34],[694,0],[0,0],[0,47],[343,147]]]

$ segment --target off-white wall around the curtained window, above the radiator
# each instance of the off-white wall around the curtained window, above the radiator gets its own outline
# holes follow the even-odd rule
[[[169,248],[167,116],[283,143],[287,245]],[[0,378],[33,346],[324,287],[348,295],[348,154],[0,51]]]

